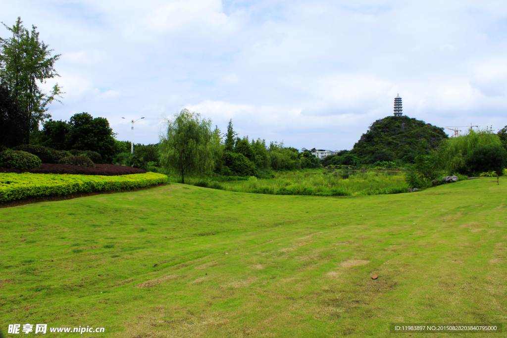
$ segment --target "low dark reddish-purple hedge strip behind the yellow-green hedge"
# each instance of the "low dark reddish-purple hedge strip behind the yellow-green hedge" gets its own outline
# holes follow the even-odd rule
[[[125,166],[116,166],[110,164],[97,164],[96,168],[86,168],[80,166],[73,166],[70,164],[49,164],[49,163],[43,163],[41,164],[41,168],[31,170],[0,168],[0,173],[2,172],[16,172],[16,173],[31,172],[34,174],[79,174],[79,175],[103,175],[103,176],[146,174],[146,171],[141,169]]]

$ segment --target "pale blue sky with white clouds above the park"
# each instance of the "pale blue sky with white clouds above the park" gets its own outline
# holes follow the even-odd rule
[[[61,54],[53,119],[87,111],[158,141],[186,107],[225,132],[351,149],[377,119],[507,125],[507,2],[0,0]],[[1,37],[9,37],[0,28]],[[54,82],[48,81],[47,88]],[[465,130],[466,128],[460,128]],[[448,131],[449,132],[449,131]]]

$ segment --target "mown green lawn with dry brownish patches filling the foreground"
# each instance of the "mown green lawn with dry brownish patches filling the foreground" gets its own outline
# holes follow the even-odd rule
[[[503,177],[352,198],[171,184],[0,209],[0,328],[384,337],[391,322],[505,322],[506,211]]]

